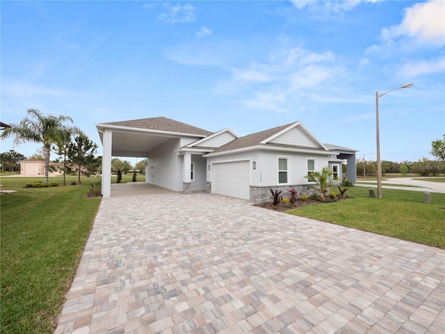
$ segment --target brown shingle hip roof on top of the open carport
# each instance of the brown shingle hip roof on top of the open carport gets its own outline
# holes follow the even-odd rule
[[[193,127],[193,125],[188,125],[166,117],[142,118],[140,120],[124,120],[121,122],[108,122],[102,124],[115,125],[118,127],[132,127],[136,129],[176,132],[179,134],[197,134],[200,136],[209,136],[213,134],[213,132],[200,129],[199,127]]]

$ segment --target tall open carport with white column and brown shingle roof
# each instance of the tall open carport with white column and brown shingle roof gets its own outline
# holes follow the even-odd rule
[[[102,141],[102,196],[111,196],[111,158],[155,157],[145,182],[179,191],[191,183],[191,152],[179,148],[209,136],[211,132],[165,117],[144,118],[96,125]],[[179,159],[178,159],[179,158]],[[156,170],[156,168],[158,168]],[[179,187],[181,189],[179,189]]]

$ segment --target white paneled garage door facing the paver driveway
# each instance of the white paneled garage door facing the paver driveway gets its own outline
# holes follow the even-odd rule
[[[250,200],[250,162],[213,164],[211,189],[220,195]]]

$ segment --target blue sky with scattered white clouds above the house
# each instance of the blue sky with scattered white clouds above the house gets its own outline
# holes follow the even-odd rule
[[[382,160],[433,159],[445,133],[444,1],[0,6],[1,121],[70,116],[99,155],[95,124],[165,116],[238,136],[300,120],[375,160],[375,92],[408,83],[380,97]]]

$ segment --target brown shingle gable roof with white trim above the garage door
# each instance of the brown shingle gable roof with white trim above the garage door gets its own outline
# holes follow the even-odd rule
[[[305,135],[309,138],[309,140],[314,141],[316,143],[317,147],[308,147],[307,145],[291,145],[291,144],[285,144],[285,143],[273,143],[272,141],[277,138],[278,136],[281,136],[282,134],[289,132],[291,129],[294,129],[296,127],[300,127]],[[231,141],[230,143],[227,143],[220,148],[216,148],[216,150],[213,150],[213,152],[207,154],[207,156],[210,156],[211,154],[216,154],[220,152],[226,152],[226,151],[232,151],[232,150],[241,150],[243,148],[250,148],[254,146],[260,146],[260,147],[270,147],[270,148],[293,148],[293,149],[300,149],[300,150],[318,150],[321,152],[326,152],[327,148],[318,141],[318,139],[312,135],[307,129],[302,125],[300,121],[289,123],[286,125],[282,125],[280,127],[274,127],[273,129],[264,130],[261,132],[256,132],[254,134],[248,134],[247,136],[243,136],[240,138],[236,138],[234,141]]]

